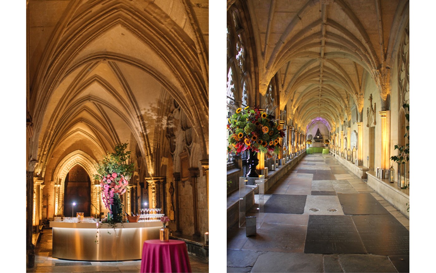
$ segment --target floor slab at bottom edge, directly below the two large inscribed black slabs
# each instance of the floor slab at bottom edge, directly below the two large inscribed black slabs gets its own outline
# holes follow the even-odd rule
[[[397,272],[388,257],[378,255],[339,255],[344,272]]]

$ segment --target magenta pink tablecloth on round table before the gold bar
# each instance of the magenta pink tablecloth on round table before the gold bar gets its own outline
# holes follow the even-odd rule
[[[191,272],[185,242],[145,241],[142,249],[141,272]]]

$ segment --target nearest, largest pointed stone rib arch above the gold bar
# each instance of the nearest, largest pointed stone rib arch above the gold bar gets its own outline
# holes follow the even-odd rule
[[[199,69],[198,68],[198,63],[196,62],[196,58],[197,55],[194,50],[194,47],[192,46],[192,42],[186,42],[185,40],[187,39],[187,37],[185,37],[183,35],[183,31],[182,30],[174,30],[173,28],[169,28],[167,26],[167,29],[163,30],[163,29],[159,29],[158,31],[155,31],[154,33],[151,33],[150,31],[148,31],[148,29],[146,28],[146,25],[153,27],[153,24],[155,25],[159,25],[157,24],[157,18],[147,18],[148,21],[145,21],[146,18],[145,17],[138,17],[139,13],[135,13],[132,12],[130,10],[128,10],[128,8],[131,7],[126,7],[123,4],[119,4],[116,3],[112,6],[110,6],[111,8],[117,7],[117,11],[114,11],[110,14],[106,14],[104,15],[105,10],[107,10],[109,8],[109,6],[107,7],[103,7],[102,11],[100,12],[100,14],[102,15],[102,18],[99,17],[100,14],[97,14],[97,19],[99,20],[95,20],[93,22],[93,24],[82,24],[82,23],[87,23],[89,22],[89,18],[81,18],[81,24],[77,24],[77,25],[86,25],[86,28],[78,28],[75,29],[73,31],[70,31],[71,35],[83,35],[82,33],[80,33],[80,31],[82,31],[83,33],[85,33],[87,31],[88,35],[85,37],[85,41],[73,41],[72,38],[68,39],[68,38],[64,38],[64,37],[72,37],[71,35],[68,36],[68,34],[63,34],[64,37],[58,38],[58,41],[62,41],[63,44],[59,43],[59,42],[52,42],[51,45],[49,46],[49,48],[47,49],[47,54],[52,54],[55,56],[54,59],[51,59],[50,62],[46,62],[44,64],[41,65],[41,69],[39,69],[39,75],[41,77],[37,77],[38,79],[41,78],[41,82],[40,83],[34,83],[34,90],[48,90],[48,94],[44,94],[42,95],[39,94],[39,92],[36,91],[37,96],[39,98],[37,98],[36,100],[36,104],[40,104],[42,105],[42,111],[40,111],[39,113],[35,113],[35,119],[37,120],[37,122],[35,122],[35,124],[40,124],[40,121],[43,118],[43,115],[41,115],[42,113],[44,113],[44,109],[46,107],[46,103],[47,100],[45,100],[45,98],[50,97],[50,93],[52,91],[50,90],[54,90],[54,88],[57,86],[58,84],[58,79],[60,79],[62,77],[62,75],[65,75],[65,69],[67,69],[67,67],[70,65],[68,61],[71,61],[73,56],[75,55],[75,52],[77,53],[78,50],[80,50],[81,43],[83,44],[82,46],[84,46],[87,42],[86,39],[92,40],[92,36],[91,34],[98,34],[99,31],[103,31],[102,29],[105,28],[97,28],[96,26],[101,26],[102,24],[104,24],[106,28],[110,28],[110,24],[118,24],[119,22],[122,22],[124,26],[133,26],[130,29],[134,30],[134,33],[138,36],[140,36],[143,40],[145,39],[144,37],[146,36],[146,33],[149,33],[150,36],[154,35],[155,37],[155,41],[157,41],[158,43],[162,43],[164,41],[159,41],[159,37],[162,37],[162,35],[164,35],[164,31],[169,32],[169,36],[173,35],[174,37],[172,37],[174,40],[173,41],[178,41],[179,43],[177,45],[183,45],[183,46],[176,46],[176,44],[172,44],[172,48],[174,48],[174,52],[171,52],[172,54],[168,54],[168,52],[163,52],[161,48],[168,48],[168,45],[165,47],[159,47],[159,45],[155,45],[155,48],[160,48],[160,56],[162,57],[162,59],[165,59],[168,65],[171,66],[177,66],[177,68],[179,69],[174,69],[174,75],[176,76],[175,78],[177,78],[179,80],[179,82],[184,86],[183,92],[180,92],[181,90],[177,90],[177,92],[174,93],[186,93],[186,97],[183,97],[183,100],[179,100],[179,102],[182,101],[186,101],[187,103],[187,107],[185,106],[185,110],[187,113],[190,113],[188,115],[191,116],[195,116],[195,121],[193,122],[193,124],[206,124],[206,122],[198,122],[198,121],[204,121],[207,119],[208,115],[204,114],[204,112],[207,112],[207,93],[204,92],[204,90],[207,90],[206,88],[206,84],[204,82],[204,79],[201,79],[201,77],[198,77],[197,75],[199,73],[195,72],[195,69]],[[95,12],[97,13],[97,12]],[[128,14],[129,16],[127,16],[126,14]],[[112,17],[111,17],[112,16]],[[68,20],[71,19],[71,16],[67,16],[67,18],[69,18]],[[96,19],[96,18],[94,18]],[[137,19],[137,20],[136,20]],[[88,21],[86,21],[88,20]],[[141,21],[142,20],[142,21]],[[154,22],[153,22],[154,20]],[[139,21],[139,23],[137,23]],[[99,23],[100,25],[97,25],[97,23]],[[142,25],[139,25],[142,24]],[[61,24],[62,25],[62,24]],[[74,26],[74,24],[71,25],[72,27]],[[95,28],[94,33],[92,33],[92,27]],[[162,28],[160,26],[160,28]],[[161,35],[161,36],[159,36]],[[54,35],[57,36],[57,35]],[[59,36],[59,35],[58,35]],[[82,39],[83,40],[83,39]],[[144,40],[145,41],[145,40]],[[71,44],[69,44],[68,46],[63,46],[66,42],[72,42]],[[79,44],[77,44],[79,43]],[[149,44],[153,44],[152,42],[149,41]],[[57,49],[59,48],[59,49]],[[74,48],[74,49],[72,49]],[[177,55],[177,53],[179,55]],[[168,59],[167,56],[170,55],[177,55],[174,58],[172,58],[171,60]],[[44,66],[47,67],[46,69],[44,69]],[[50,67],[50,68],[49,68]],[[179,70],[179,71],[177,71]],[[45,72],[43,72],[45,71]],[[44,75],[47,75],[45,77],[42,77],[42,73],[44,73]],[[44,80],[44,84],[42,83]],[[195,102],[195,103],[194,103]],[[197,109],[195,109],[194,105],[198,108],[200,108],[201,111],[197,111]],[[191,109],[193,109],[193,111],[190,111]],[[193,112],[193,113],[191,113]],[[197,127],[196,128],[199,135],[205,137],[207,135],[207,127],[206,128],[201,128],[201,127]],[[36,128],[35,130],[37,133],[35,134],[35,136],[39,135],[39,131],[40,128]],[[204,151],[206,151],[206,143],[204,143]],[[37,149],[36,147],[34,147],[34,149]]]

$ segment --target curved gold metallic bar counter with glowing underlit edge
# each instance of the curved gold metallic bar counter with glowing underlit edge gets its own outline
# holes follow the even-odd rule
[[[141,259],[143,243],[159,239],[160,221],[108,224],[50,222],[53,257],[82,261]]]

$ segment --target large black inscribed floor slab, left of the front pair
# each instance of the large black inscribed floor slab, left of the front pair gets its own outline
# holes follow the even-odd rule
[[[351,216],[310,215],[304,253],[366,253]]]

